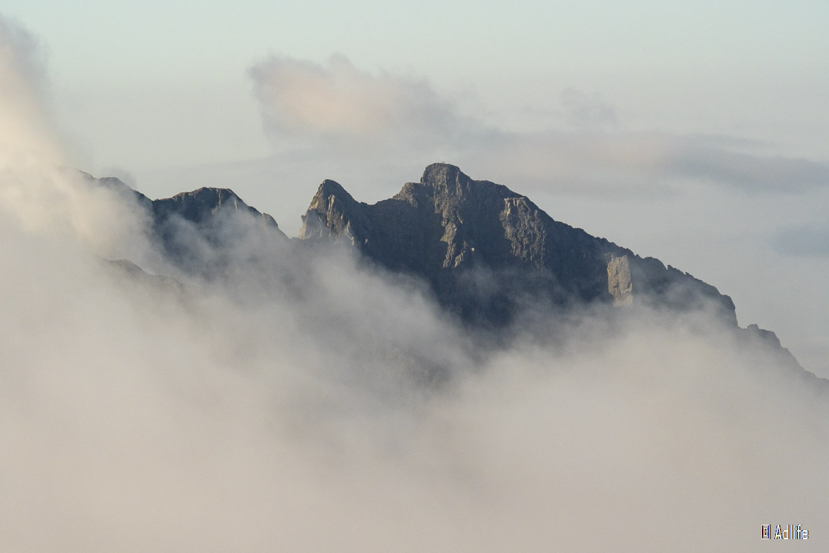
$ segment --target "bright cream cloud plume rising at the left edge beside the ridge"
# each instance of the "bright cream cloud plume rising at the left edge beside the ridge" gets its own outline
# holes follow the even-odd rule
[[[80,239],[98,255],[145,259],[142,214],[61,167],[41,46],[0,17],[0,213],[33,235]]]

